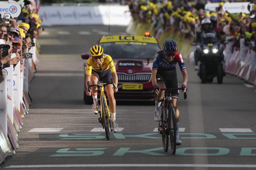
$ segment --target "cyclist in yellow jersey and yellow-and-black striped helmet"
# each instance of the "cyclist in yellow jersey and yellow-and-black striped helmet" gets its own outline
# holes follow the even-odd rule
[[[101,79],[103,83],[111,83],[111,78],[113,78],[114,83],[118,84],[118,78],[116,73],[116,67],[110,55],[103,53],[103,48],[99,45],[92,46],[90,49],[90,57],[87,60],[86,65],[86,81],[90,81],[91,84],[95,85],[98,80]],[[112,74],[111,74],[112,73]],[[86,84],[87,88],[87,84]],[[118,88],[113,88],[112,84],[105,86],[107,92],[109,107],[111,112],[111,123],[113,131],[117,132],[118,125],[116,122],[116,100],[114,98],[114,92],[118,91]],[[92,95],[93,104],[92,112],[94,114],[98,113],[98,99],[97,99],[97,86],[92,86],[90,92],[86,92],[86,95]]]

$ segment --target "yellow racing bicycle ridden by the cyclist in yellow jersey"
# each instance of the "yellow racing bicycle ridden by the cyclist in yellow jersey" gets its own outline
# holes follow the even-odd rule
[[[91,87],[92,86],[97,86],[100,87],[100,120],[99,122],[102,125],[102,128],[105,129],[105,133],[106,133],[106,138],[107,140],[109,140],[109,129],[112,132],[113,129],[111,127],[111,113],[108,109],[108,104],[107,104],[107,100],[106,100],[106,95],[104,93],[104,85],[109,85],[112,84],[113,88],[116,88],[116,85],[113,81],[113,79],[111,79],[111,83],[98,83],[96,85],[90,85],[90,82],[87,82],[87,92],[91,91]]]

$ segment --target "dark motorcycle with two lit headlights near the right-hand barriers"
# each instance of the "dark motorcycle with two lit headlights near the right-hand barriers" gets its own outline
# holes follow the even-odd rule
[[[227,44],[228,42],[222,41],[221,43]],[[223,76],[225,76],[225,63],[224,48],[221,43],[216,37],[207,38],[202,43],[191,43],[191,45],[197,46],[195,52],[195,58],[198,57],[197,75],[203,84],[206,82],[212,83],[214,77],[217,77],[218,84],[222,84]]]

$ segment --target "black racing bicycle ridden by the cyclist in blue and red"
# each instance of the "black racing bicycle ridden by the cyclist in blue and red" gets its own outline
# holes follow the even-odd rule
[[[161,102],[161,121],[158,125],[158,132],[162,134],[164,152],[168,151],[169,135],[172,154],[176,152],[176,116],[172,104],[171,90],[181,90],[181,88],[165,88],[164,99]],[[156,97],[155,97],[156,98]],[[184,99],[187,98],[187,93],[184,93]]]

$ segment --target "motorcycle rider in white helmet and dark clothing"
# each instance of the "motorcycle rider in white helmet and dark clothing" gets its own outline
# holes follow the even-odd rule
[[[221,40],[220,34],[212,29],[212,22],[210,19],[204,18],[201,21],[201,26],[202,26],[201,31],[197,33],[195,42],[207,43],[206,42],[207,38],[211,38],[211,37],[217,37],[218,41]],[[199,61],[199,55],[200,55],[199,49],[196,48],[194,52],[196,70],[198,69],[197,63]]]

